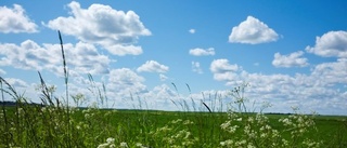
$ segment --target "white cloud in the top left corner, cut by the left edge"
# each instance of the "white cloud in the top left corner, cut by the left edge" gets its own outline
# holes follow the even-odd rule
[[[25,14],[25,10],[13,4],[13,9],[0,6],[0,32],[37,32],[37,25]]]

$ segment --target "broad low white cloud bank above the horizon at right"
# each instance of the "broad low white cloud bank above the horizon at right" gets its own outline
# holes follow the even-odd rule
[[[347,105],[347,92],[335,89],[347,83],[346,59],[319,64],[312,68],[311,73],[295,76],[250,73],[237,67],[226,59],[216,59],[211,63],[210,70],[214,79],[226,82],[226,85],[237,86],[243,82],[249,82],[250,89],[246,92],[248,98],[287,107],[285,110],[278,108],[278,111],[288,111],[290,106],[305,107],[305,111],[323,108],[342,111],[340,107]]]

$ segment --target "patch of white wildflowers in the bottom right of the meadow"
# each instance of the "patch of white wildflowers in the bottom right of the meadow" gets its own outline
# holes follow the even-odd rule
[[[284,126],[284,129],[281,131],[273,129],[273,124]],[[270,122],[270,119],[264,113],[230,112],[229,120],[220,127],[231,134],[229,139],[220,142],[222,147],[305,146],[316,148],[321,146],[321,142],[305,138],[305,133],[316,129],[312,118],[305,115],[291,115],[287,118],[281,118],[278,122]],[[283,136],[286,132],[290,132],[291,138]]]

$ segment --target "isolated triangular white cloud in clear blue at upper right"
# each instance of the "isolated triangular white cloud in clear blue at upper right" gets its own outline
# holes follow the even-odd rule
[[[229,42],[250,44],[272,42],[278,39],[279,35],[273,29],[253,16],[233,27],[229,36]]]

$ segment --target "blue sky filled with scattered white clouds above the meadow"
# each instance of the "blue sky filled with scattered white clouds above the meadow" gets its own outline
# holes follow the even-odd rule
[[[39,103],[39,71],[66,103],[60,30],[69,99],[82,96],[82,106],[206,111],[205,103],[216,111],[232,105],[231,90],[247,84],[248,111],[266,105],[267,112],[346,116],[346,6],[344,0],[4,0],[0,76]]]

